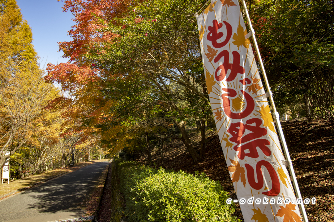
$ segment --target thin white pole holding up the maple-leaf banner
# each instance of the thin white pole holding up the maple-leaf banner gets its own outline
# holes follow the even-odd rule
[[[296,178],[296,175],[295,175],[295,171],[294,171],[293,166],[292,166],[288,146],[286,144],[285,137],[284,137],[284,134],[283,134],[283,130],[282,130],[281,122],[280,122],[280,115],[278,114],[278,112],[276,110],[276,107],[275,107],[273,94],[270,90],[270,86],[269,86],[269,82],[268,82],[268,79],[267,79],[265,67],[264,67],[263,62],[262,62],[259,46],[258,46],[258,43],[257,43],[256,38],[255,38],[255,32],[254,32],[254,29],[253,29],[253,26],[252,26],[251,19],[249,18],[249,14],[248,14],[248,10],[247,10],[245,0],[242,0],[242,5],[243,5],[243,9],[244,9],[244,12],[246,14],[247,21],[248,21],[248,26],[249,26],[250,33],[252,33],[256,54],[258,55],[258,58],[259,58],[259,63],[260,63],[261,71],[262,71],[262,76],[263,76],[263,79],[265,81],[265,85],[266,85],[266,88],[267,88],[266,96],[267,95],[269,96],[270,104],[272,105],[272,108],[273,108],[273,117],[275,119],[279,135],[281,137],[281,142],[282,142],[285,157],[288,160],[288,161],[286,161],[285,165],[289,167],[289,171],[290,171],[290,175],[292,177],[292,182],[293,182],[293,185],[294,185],[294,189],[295,189],[295,192],[297,193],[297,198],[302,199],[302,195],[300,194],[300,190],[299,190],[297,178]],[[299,206],[301,208],[302,216],[304,218],[304,221],[308,222],[309,220],[307,219],[307,215],[306,215],[306,211],[305,211],[303,201],[301,201]]]

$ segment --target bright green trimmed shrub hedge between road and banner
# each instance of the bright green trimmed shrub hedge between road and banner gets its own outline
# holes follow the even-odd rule
[[[237,221],[219,182],[183,171],[153,169],[136,162],[117,167],[128,221]]]

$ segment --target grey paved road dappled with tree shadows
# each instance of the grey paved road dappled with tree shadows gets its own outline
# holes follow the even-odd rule
[[[78,206],[109,162],[98,162],[0,201],[0,222],[46,222],[84,216]]]

